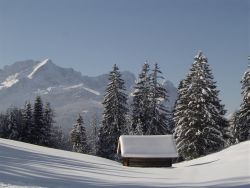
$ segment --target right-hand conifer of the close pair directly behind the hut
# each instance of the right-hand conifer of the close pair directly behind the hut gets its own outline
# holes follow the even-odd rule
[[[164,103],[168,100],[166,88],[159,83],[163,80],[162,72],[157,63],[154,65],[152,74],[150,75],[150,126],[146,134],[148,135],[164,135],[173,133],[172,115],[166,108]]]

